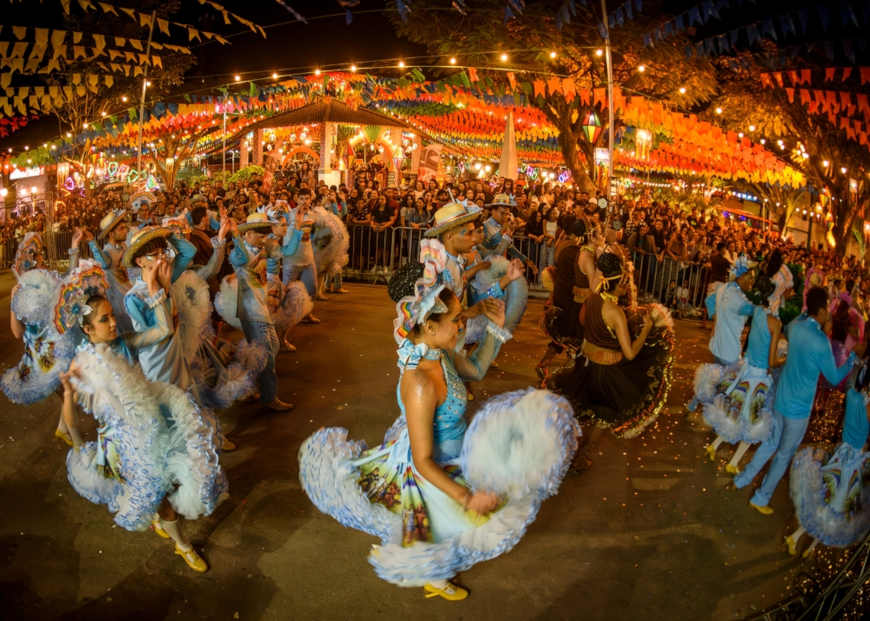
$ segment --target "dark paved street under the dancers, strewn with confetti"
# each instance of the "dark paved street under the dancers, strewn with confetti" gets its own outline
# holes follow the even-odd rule
[[[2,277],[8,325],[11,277]],[[642,437],[592,433],[591,468],[570,474],[509,554],[475,566],[462,603],[378,579],[366,561],[374,539],[319,513],[300,489],[296,452],[320,426],[348,427],[369,444],[397,413],[393,303],[383,287],[348,285],[319,303],[323,323],[299,326],[295,354],[278,361],[290,414],[257,406],[221,415],[239,450],[224,457],[231,498],[186,524],[211,565],[190,571],[152,532],[113,526],[103,507],[66,480],[66,447],[52,437],[59,400],[32,407],[5,398],[0,430],[0,589],[4,618],[89,619],[730,619],[779,600],[799,561],[782,537],[794,526],[780,485],[762,517],[749,492],[723,489],[722,462],[702,460],[708,435],[686,417],[701,322],[678,322],[669,407]],[[486,395],[535,381],[546,344],[543,308],[531,303],[497,368],[474,386]],[[0,330],[3,366],[21,348]]]

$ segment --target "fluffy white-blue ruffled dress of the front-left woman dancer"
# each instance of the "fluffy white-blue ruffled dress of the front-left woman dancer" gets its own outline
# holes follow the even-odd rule
[[[210,514],[227,491],[220,434],[185,391],[149,382],[122,339],[83,345],[73,383],[97,421],[97,440],[67,453],[67,477],[127,530],[144,530],[164,498],[181,515]]]

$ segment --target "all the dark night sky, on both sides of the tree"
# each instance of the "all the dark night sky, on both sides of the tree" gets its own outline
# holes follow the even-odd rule
[[[344,9],[339,5],[338,0],[283,1],[308,18],[309,22],[303,24],[296,21],[277,0],[223,0],[222,2],[230,11],[263,26],[268,35],[266,39],[251,33],[240,24],[225,25],[218,12],[202,6],[198,0],[124,0],[119,5],[147,11],[157,4],[174,3],[180,7],[179,12],[172,17],[175,21],[190,23],[202,30],[218,32],[230,39],[232,45],[229,46],[218,43],[197,45],[194,42],[192,49],[197,55],[198,62],[188,71],[185,83],[179,89],[180,92],[193,92],[200,89],[208,91],[209,87],[230,82],[236,73],[243,78],[256,77],[251,72],[260,72],[262,76],[263,72],[271,74],[272,71],[278,71],[286,75],[293,72],[304,73],[315,67],[325,68],[333,65],[333,67],[337,66],[336,68],[346,68],[351,62],[359,63],[366,60],[408,57],[425,53],[425,50],[419,46],[396,37],[387,18],[388,9],[385,0],[360,0],[352,9],[353,20],[349,25],[346,24]],[[497,5],[504,4],[503,0],[492,1]],[[533,1],[529,0],[529,3]],[[413,0],[412,6],[414,3],[422,5],[424,2],[425,0]],[[870,0],[855,0],[851,3],[858,11],[862,23],[866,23],[868,19],[866,18],[868,2]],[[700,0],[644,0],[643,13],[647,18],[662,12],[676,15],[699,3]],[[438,4],[447,6],[449,0],[439,0]],[[470,2],[470,4],[474,3]],[[620,4],[622,0],[608,2],[610,7]],[[850,49],[854,48],[853,54],[857,56],[854,64],[866,64],[870,55],[867,39],[863,36],[863,30],[858,29],[860,34],[856,35],[855,28],[841,26],[839,12],[841,4],[840,2],[824,3],[818,0],[728,0],[728,8],[721,10],[720,19],[713,19],[707,26],[701,27],[696,32],[696,36],[703,38],[721,34],[736,26],[758,23],[782,14],[794,15],[795,11],[809,9],[812,18],[809,32],[796,37],[781,38],[780,44],[788,45],[795,42],[805,44],[807,41],[820,39],[833,40],[832,49],[837,55],[835,61],[831,62],[824,57],[814,60],[844,66],[852,65],[853,62],[850,62],[852,59],[842,57],[841,41],[838,39],[857,36],[859,37],[857,43],[850,46]],[[821,32],[819,27],[816,14],[818,5],[829,6],[832,23],[826,32]],[[2,7],[0,10],[2,10],[3,24],[69,28],[68,24],[64,24],[59,0],[0,0],[0,7]],[[72,0],[72,7],[73,14],[81,14],[81,9],[75,0]],[[126,36],[144,38],[141,29],[134,28],[131,23],[126,24],[131,31],[113,33],[105,32],[111,30],[111,26],[106,26],[99,19],[92,17],[91,21],[95,24],[94,30],[103,34],[126,34]],[[12,37],[4,30],[3,37],[0,38],[9,40]],[[157,40],[165,41],[166,38],[161,35]],[[173,42],[187,43],[177,30]],[[819,56],[818,51],[809,54],[810,58],[813,56]],[[56,134],[57,124],[49,117],[33,123],[32,126],[5,141],[0,140],[0,149],[5,151],[11,146],[17,151],[25,143],[39,144],[56,137]]]

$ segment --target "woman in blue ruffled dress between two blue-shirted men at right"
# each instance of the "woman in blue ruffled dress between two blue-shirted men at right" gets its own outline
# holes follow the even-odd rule
[[[770,267],[779,270],[778,265]],[[710,461],[715,461],[722,442],[739,443],[725,466],[731,474],[739,472],[740,460],[750,445],[781,431],[779,418],[772,412],[775,393],[770,371],[785,364],[785,357],[777,353],[782,323],[776,312],[787,293],[788,290],[777,290],[765,272],[758,274],[750,298],[764,300],[764,305],[755,306],[753,311],[746,356],[734,380],[704,404],[704,420],[717,434],[704,447]]]

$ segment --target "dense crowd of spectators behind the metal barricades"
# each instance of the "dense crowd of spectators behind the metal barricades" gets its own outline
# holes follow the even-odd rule
[[[272,183],[258,175],[245,182],[179,183],[157,192],[157,200],[140,209],[136,219],[156,222],[189,209],[191,199],[202,196],[215,213],[225,212],[243,222],[249,213],[265,211],[279,201],[295,206],[297,192],[307,188],[314,192],[312,205],[323,206],[347,225],[351,236],[347,268],[354,276],[365,277],[387,275],[416,258],[423,230],[435,211],[449,201],[474,203],[488,211],[486,206],[494,196],[507,194],[512,206],[505,230],[536,265],[537,278],[527,272],[533,285],[540,285],[540,274],[553,265],[556,244],[575,220],[582,219],[589,231],[597,230],[632,252],[641,295],[689,314],[697,314],[709,283],[722,281],[728,266],[741,254],[762,257],[779,249],[787,263],[804,269],[816,266],[826,274],[850,275],[859,271],[854,256],[840,258],[821,245],[812,250],[796,245],[776,231],[752,227],[712,206],[687,209],[641,194],[617,196],[602,207],[600,194],[553,183],[473,178],[441,183],[418,180],[399,187],[385,186],[384,178],[376,170],[363,170],[350,185],[327,186],[316,183],[310,166],[295,163],[277,170]],[[98,191],[88,200],[70,196],[58,203],[51,228],[66,234],[59,242],[63,246],[76,228],[95,230],[105,213],[123,204],[124,196],[117,188]],[[45,226],[42,213],[8,218],[0,226],[4,263],[8,265],[25,233],[45,230]],[[63,252],[61,248],[58,256]]]

